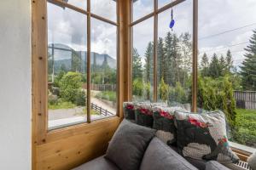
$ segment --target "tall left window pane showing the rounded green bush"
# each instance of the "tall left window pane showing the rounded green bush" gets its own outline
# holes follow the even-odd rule
[[[86,15],[48,3],[49,128],[85,122]]]

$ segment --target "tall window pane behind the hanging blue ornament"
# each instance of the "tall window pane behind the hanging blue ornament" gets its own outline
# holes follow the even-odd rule
[[[193,1],[173,7],[176,21],[173,29],[171,9],[159,14],[158,38],[158,100],[168,105],[191,103],[192,20]]]

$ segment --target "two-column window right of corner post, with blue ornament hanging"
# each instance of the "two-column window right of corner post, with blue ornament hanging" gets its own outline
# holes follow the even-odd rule
[[[193,1],[158,3],[168,8],[160,11],[157,1],[132,5],[132,99],[190,107]],[[139,6],[143,12],[138,14]],[[172,16],[177,23],[171,29]]]

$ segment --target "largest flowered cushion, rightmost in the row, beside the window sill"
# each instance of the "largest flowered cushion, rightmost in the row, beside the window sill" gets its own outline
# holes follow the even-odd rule
[[[201,114],[176,111],[175,124],[177,148],[183,156],[221,163],[239,161],[230,149],[222,111]]]

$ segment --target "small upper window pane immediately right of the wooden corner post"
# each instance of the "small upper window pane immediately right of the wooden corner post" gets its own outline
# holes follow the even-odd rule
[[[154,11],[154,0],[134,0],[132,11],[133,21],[138,20]]]

